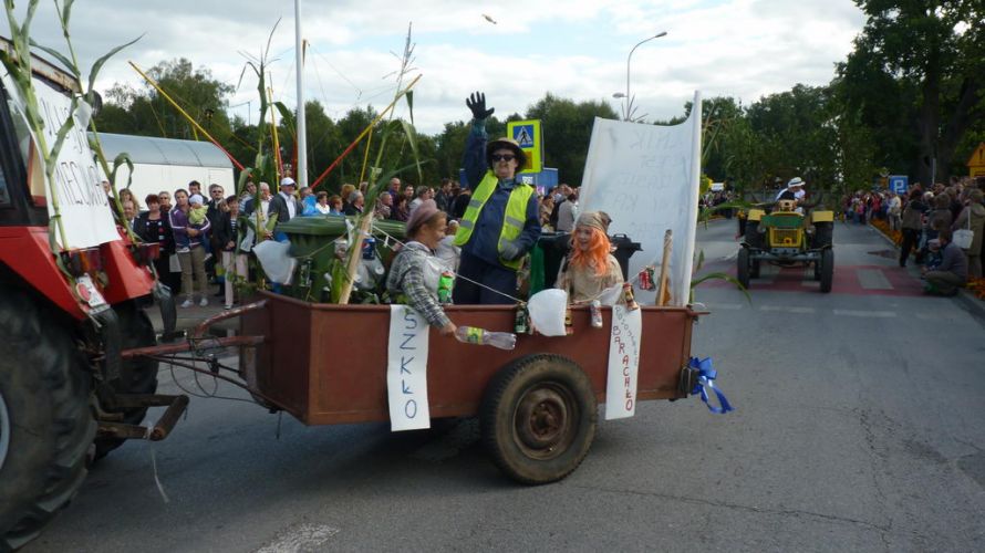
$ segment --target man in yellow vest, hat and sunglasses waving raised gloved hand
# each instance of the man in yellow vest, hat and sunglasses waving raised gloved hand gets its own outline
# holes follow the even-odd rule
[[[486,95],[465,101],[473,128],[465,146],[465,177],[471,198],[455,233],[462,248],[453,299],[456,304],[510,304],[517,295],[517,270],[540,238],[537,192],[516,178],[527,157],[519,144],[500,138],[486,144]]]

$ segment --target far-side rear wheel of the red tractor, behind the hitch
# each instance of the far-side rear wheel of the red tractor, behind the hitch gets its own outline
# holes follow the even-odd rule
[[[116,315],[120,317],[120,332],[123,333],[123,348],[146,347],[157,345],[157,335],[154,333],[154,325],[144,313],[133,302],[116,307]],[[154,394],[157,392],[157,366],[158,363],[148,357],[136,357],[124,361],[131,374],[131,385],[126,387],[117,378],[110,382],[110,386],[114,392],[121,394]],[[139,425],[147,415],[146,407],[133,409],[106,409],[107,413],[122,413],[123,421],[128,425]],[[118,448],[126,440],[120,438],[96,438],[96,459],[106,457],[110,451]]]

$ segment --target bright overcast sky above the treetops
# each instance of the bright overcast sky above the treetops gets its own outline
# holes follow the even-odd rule
[[[25,1],[18,3],[23,13]],[[414,118],[433,134],[467,119],[464,100],[485,91],[497,115],[523,113],[545,93],[574,101],[611,102],[626,86],[637,114],[666,119],[699,90],[748,105],[797,83],[827,84],[834,64],[851,51],[864,17],[851,0],[504,0],[499,2],[302,0],[302,34],[310,42],[305,97],[333,118],[353,106],[377,109],[393,96],[407,25],[416,44]],[[229,84],[246,58],[259,54],[278,18],[270,65],[274,96],[293,106],[294,14],[287,0],[86,0],[75,2],[73,42],[83,65],[132,38],[144,38],[102,71],[97,88],[139,85],[127,60],[146,69],[187,58]],[[489,15],[492,22],[484,18]],[[33,36],[64,51],[51,2],[42,0]],[[2,34],[8,35],[4,28]],[[387,76],[391,75],[391,76]],[[252,101],[251,104],[245,104]],[[238,105],[242,104],[242,105]],[[229,98],[230,112],[256,122],[256,81],[245,79]]]

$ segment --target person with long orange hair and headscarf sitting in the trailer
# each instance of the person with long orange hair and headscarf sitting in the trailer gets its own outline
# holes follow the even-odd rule
[[[568,291],[569,303],[590,302],[603,290],[622,284],[622,270],[609,242],[609,216],[603,211],[578,216],[571,234],[571,253],[561,263],[557,288]]]

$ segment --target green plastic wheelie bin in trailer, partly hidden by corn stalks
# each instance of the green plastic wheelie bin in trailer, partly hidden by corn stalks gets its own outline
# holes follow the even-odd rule
[[[277,226],[279,232],[288,236],[291,242],[291,257],[298,260],[292,284],[283,288],[287,295],[305,301],[329,301],[328,275],[335,258],[334,241],[345,233],[346,219],[356,225],[353,217],[312,216],[294,217]],[[405,225],[400,221],[373,221],[371,234],[376,239],[377,255],[388,264],[393,248],[386,236],[403,240]]]

